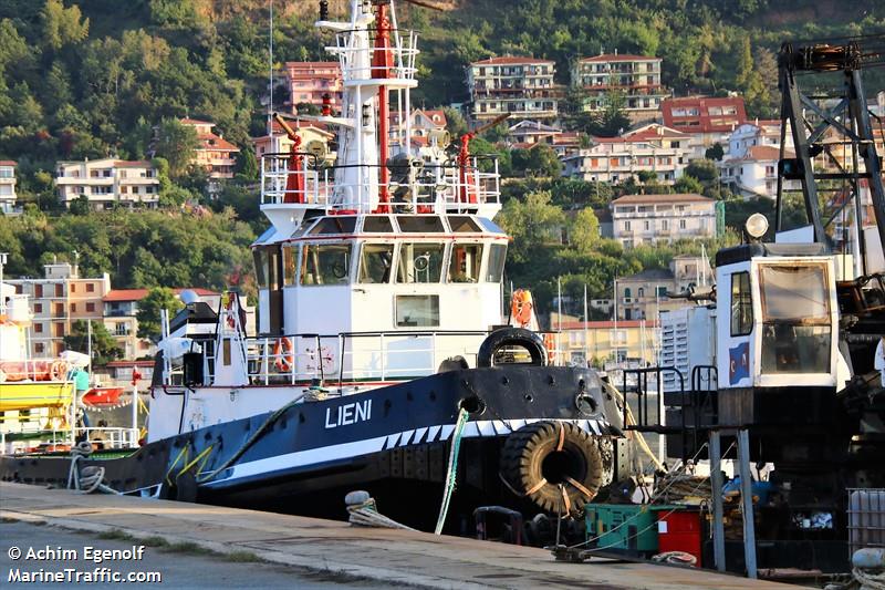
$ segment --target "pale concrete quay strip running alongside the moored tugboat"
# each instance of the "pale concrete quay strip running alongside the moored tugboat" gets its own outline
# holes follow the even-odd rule
[[[787,589],[787,584],[647,563],[553,560],[543,549],[427,532],[357,528],[346,522],[127,496],[0,483],[0,517],[73,530],[119,530],[219,553],[385,584],[424,588]],[[13,539],[3,539],[3,551]],[[22,540],[17,540],[21,542]],[[188,559],[169,555],[168,559]],[[261,563],[243,562],[242,568]]]

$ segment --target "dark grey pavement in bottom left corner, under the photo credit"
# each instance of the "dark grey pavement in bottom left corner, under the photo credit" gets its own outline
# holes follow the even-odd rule
[[[156,539],[148,539],[154,546],[146,546],[140,559],[108,559],[95,562],[96,551],[119,550],[133,551],[137,557],[138,547],[144,541],[108,539],[118,535],[100,535],[95,532],[72,531],[53,526],[38,526],[28,522],[4,520],[0,522],[0,588],[10,590],[27,588],[84,588],[118,589],[117,582],[92,583],[88,577],[107,578],[111,572],[128,576],[129,572],[143,572],[153,576],[159,573],[158,582],[131,582],[126,588],[287,588],[298,590],[330,590],[333,588],[354,588],[375,590],[389,588],[378,581],[361,580],[343,575],[311,571],[277,563],[249,561],[254,553],[242,551],[229,556],[200,551],[191,545],[156,546]],[[10,548],[18,547],[22,551],[19,559],[10,558]],[[28,550],[33,548],[32,559],[27,559]],[[46,549],[53,551],[48,552]],[[42,551],[39,553],[38,551]],[[75,553],[74,553],[75,552]],[[13,551],[14,553],[14,551]],[[74,559],[76,555],[76,559]],[[106,555],[106,553],[105,553]],[[101,553],[98,553],[101,558]],[[40,559],[43,557],[43,559]],[[92,559],[86,559],[92,557]],[[123,557],[121,555],[119,557]],[[103,570],[107,568],[111,571]],[[60,572],[61,582],[31,582],[29,575],[40,578],[43,572]],[[18,573],[17,573],[18,572]],[[81,572],[80,581],[76,572]],[[18,581],[17,581],[18,579]],[[45,580],[45,578],[43,578]],[[136,578],[137,579],[137,578]]]

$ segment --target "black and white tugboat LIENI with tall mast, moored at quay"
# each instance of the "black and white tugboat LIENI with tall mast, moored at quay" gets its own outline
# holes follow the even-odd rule
[[[454,154],[445,134],[413,148],[418,50],[394,2],[353,0],[346,22],[322,4],[344,96],[313,120],[339,130],[337,155],[302,151],[290,128],[292,151],[262,158],[258,335],[235,293],[165,319],[146,445],[81,465],[122,493],[319,516],[365,489],[425,529],[454,487],[451,532],[488,505],[581,511],[622,435],[616,394],[509,324],[497,163],[470,154],[472,134]],[[63,485],[69,458],[0,469]]]

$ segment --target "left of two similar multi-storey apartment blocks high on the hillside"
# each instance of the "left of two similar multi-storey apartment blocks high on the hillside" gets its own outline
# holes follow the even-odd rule
[[[555,64],[535,58],[489,58],[467,68],[470,115],[488,121],[512,117],[551,120],[559,116],[562,86],[553,82]]]

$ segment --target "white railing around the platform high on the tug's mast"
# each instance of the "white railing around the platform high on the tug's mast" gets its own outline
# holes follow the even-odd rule
[[[418,35],[415,31],[388,29],[391,32],[391,46],[387,49],[366,46],[366,40],[360,34],[366,31],[342,31],[335,35],[335,44],[325,48],[333,55],[339,56],[341,74],[345,85],[348,82],[363,82],[369,80],[389,80],[395,86],[396,81],[413,81],[418,72],[415,58],[418,55]],[[367,35],[368,43],[374,43],[374,34]],[[360,58],[368,53],[368,59]],[[389,66],[374,65],[374,56],[387,52],[393,58]]]

